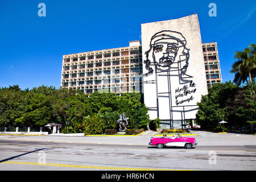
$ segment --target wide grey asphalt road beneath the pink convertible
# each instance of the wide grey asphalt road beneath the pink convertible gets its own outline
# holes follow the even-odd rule
[[[0,170],[256,169],[256,136],[214,137],[206,142],[199,134],[199,145],[188,150],[149,146],[150,137],[0,136]]]

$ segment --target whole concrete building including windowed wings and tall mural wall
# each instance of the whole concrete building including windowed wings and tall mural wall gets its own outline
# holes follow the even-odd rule
[[[217,43],[201,42],[197,14],[141,25],[142,43],[63,56],[61,86],[86,94],[141,91],[150,119],[183,128],[221,80]]]

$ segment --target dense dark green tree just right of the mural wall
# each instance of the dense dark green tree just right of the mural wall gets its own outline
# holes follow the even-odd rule
[[[197,103],[199,106],[196,114],[197,122],[206,130],[220,129],[218,122],[222,119],[228,122],[225,125],[228,127],[246,125],[244,115],[239,114],[243,103],[245,96],[242,88],[230,81],[225,84],[215,84]]]

